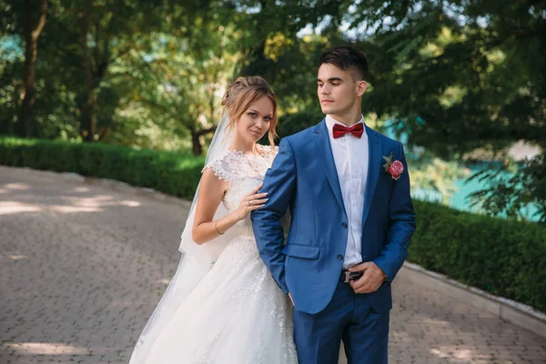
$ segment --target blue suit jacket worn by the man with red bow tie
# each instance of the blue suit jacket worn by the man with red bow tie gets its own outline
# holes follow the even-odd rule
[[[369,171],[361,254],[392,282],[408,256],[415,230],[410,177],[402,145],[368,126],[366,133]],[[404,164],[396,181],[382,167],[383,156],[391,152]],[[252,213],[259,254],[278,286],[290,292],[296,308],[318,313],[338,284],[349,223],[325,120],[281,140],[261,191],[268,192],[268,203]],[[280,218],[288,208],[291,223],[285,245]],[[389,283],[368,296],[376,311],[392,308]]]

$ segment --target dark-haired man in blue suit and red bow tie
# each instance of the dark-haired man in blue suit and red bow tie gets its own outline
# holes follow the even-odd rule
[[[350,47],[323,54],[317,78],[326,118],[283,138],[252,214],[261,258],[294,303],[300,364],[387,363],[390,282],[415,230],[402,145],[360,113],[368,61]],[[284,245],[280,218],[289,208]]]

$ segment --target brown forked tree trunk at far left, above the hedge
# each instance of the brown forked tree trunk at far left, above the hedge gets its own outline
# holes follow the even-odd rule
[[[25,84],[25,96],[19,110],[18,128],[20,136],[32,136],[33,112],[35,104],[35,62],[38,49],[38,38],[45,26],[47,14],[47,0],[40,0],[39,15],[36,22],[33,21],[33,1],[25,0],[25,65],[23,66],[23,82]]]

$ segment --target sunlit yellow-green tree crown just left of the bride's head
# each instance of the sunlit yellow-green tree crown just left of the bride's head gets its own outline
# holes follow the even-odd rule
[[[239,58],[240,32],[222,25],[226,16],[194,14],[184,30],[148,35],[147,47],[116,65],[136,75],[126,82],[130,86],[120,114],[149,110],[154,124],[189,139],[200,155],[221,117],[221,97]]]

